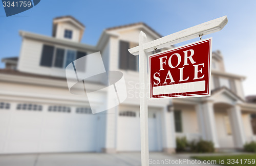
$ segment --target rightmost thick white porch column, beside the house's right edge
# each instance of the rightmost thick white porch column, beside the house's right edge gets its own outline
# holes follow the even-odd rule
[[[228,109],[228,115],[232,129],[234,146],[236,148],[243,148],[246,139],[240,106],[234,105],[232,108]]]

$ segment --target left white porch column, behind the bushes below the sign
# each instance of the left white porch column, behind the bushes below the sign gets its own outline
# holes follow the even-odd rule
[[[207,101],[202,104],[202,113],[205,130],[205,140],[214,143],[215,148],[219,148],[218,135],[216,130],[216,121],[214,115],[214,103]]]

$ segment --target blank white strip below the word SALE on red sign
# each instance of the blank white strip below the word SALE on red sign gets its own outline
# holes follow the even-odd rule
[[[187,82],[167,86],[153,87],[153,95],[205,91],[205,81]]]

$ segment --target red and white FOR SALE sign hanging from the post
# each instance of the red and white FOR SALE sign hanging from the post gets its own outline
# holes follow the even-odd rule
[[[150,98],[210,96],[211,41],[149,56]]]

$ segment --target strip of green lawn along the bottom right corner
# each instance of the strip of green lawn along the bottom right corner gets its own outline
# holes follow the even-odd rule
[[[221,165],[248,165],[256,164],[256,154],[242,154],[242,155],[223,155],[223,156],[192,156],[191,158],[199,160],[216,160],[217,164]]]

